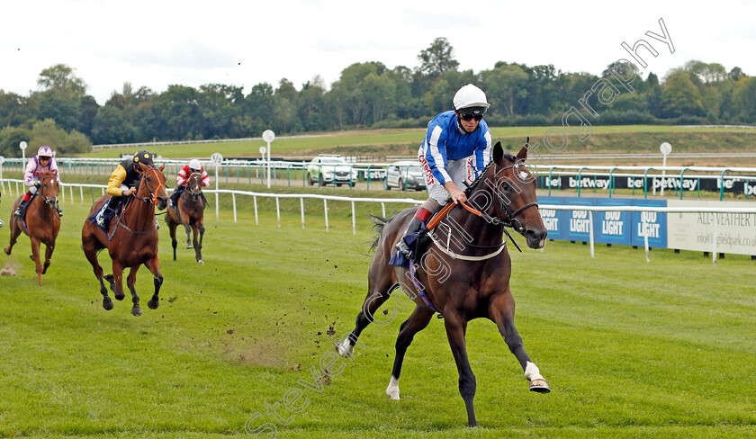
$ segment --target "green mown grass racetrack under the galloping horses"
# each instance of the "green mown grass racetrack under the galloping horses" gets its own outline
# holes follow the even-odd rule
[[[14,255],[0,255],[18,272],[0,277],[0,436],[246,437],[257,412],[252,426],[274,423],[284,438],[756,435],[747,257],[712,267],[699,254],[653,250],[646,264],[640,249],[598,246],[591,259],[587,246],[560,242],[513,254],[518,329],[551,394],[528,392],[495,327],[473,321],[482,427],[464,427],[455,365],[434,319],[408,352],[402,400],[390,401],[383,390],[409,309],[387,302],[400,317],[366,329],[355,361],[322,392],[305,389],[309,405],[281,426],[266,404],[312,381],[310,368],[352,328],[365,297],[371,208],[360,208],[356,235],[349,208],[336,205],[329,232],[316,212],[305,230],[295,210],[277,228],[269,205],[259,226],[249,210],[236,225],[229,211],[220,221],[209,214],[204,266],[181,245],[171,260],[164,225],[160,308],[133,318],[128,297],[102,309],[79,248],[86,207],[64,207],[42,287],[27,237]],[[0,229],[3,245],[7,238]],[[101,261],[107,267],[107,255]],[[142,300],[150,277],[142,268]]]

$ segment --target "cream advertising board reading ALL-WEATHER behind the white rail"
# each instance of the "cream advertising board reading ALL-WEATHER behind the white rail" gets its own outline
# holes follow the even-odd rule
[[[753,202],[694,202],[671,200],[670,207],[756,207]],[[710,252],[716,222],[716,251],[756,255],[754,213],[668,213],[667,246],[680,250]]]

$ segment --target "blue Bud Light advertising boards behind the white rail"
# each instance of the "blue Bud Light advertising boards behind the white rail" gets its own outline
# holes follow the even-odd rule
[[[666,206],[664,200],[630,198],[538,197],[541,206]],[[590,241],[590,212],[556,211],[539,208],[550,239]],[[644,246],[644,233],[649,246],[664,248],[667,245],[667,217],[656,212],[594,211],[593,239],[603,244]]]

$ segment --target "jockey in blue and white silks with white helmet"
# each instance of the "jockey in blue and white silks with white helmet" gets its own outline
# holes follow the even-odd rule
[[[428,123],[426,137],[418,150],[430,196],[420,205],[396,245],[408,258],[414,255],[404,237],[418,233],[423,221],[447,198],[451,197],[455,204],[466,202],[467,196],[460,187],[465,182],[473,183],[491,161],[491,130],[482,120],[491,106],[486,94],[475,85],[464,85],[456,92],[453,103],[454,111],[439,113]]]

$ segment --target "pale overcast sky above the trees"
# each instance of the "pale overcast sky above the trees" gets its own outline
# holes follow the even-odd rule
[[[28,96],[42,69],[66,64],[100,104],[125,82],[156,93],[172,84],[237,85],[247,94],[286,77],[299,90],[316,75],[330,86],[356,62],[418,67],[437,37],[452,44],[461,70],[476,73],[507,61],[599,75],[617,59],[633,61],[622,42],[644,39],[658,51],[639,49],[644,76],[663,77],[690,59],[756,75],[754,4],[14,0],[2,6],[0,89]],[[660,18],[674,53],[645,35],[662,34]]]

